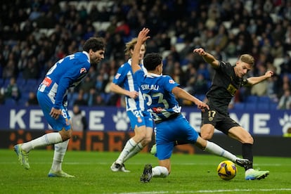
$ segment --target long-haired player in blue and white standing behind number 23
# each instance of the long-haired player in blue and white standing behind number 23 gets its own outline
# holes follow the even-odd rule
[[[134,52],[137,38],[126,44],[125,54],[129,57]],[[146,73],[143,67],[143,56],[145,55],[145,44],[141,45],[138,51],[138,64]],[[111,165],[112,172],[129,172],[125,169],[124,162],[141,151],[145,145],[150,143],[153,136],[153,119],[145,109],[143,96],[134,81],[131,70],[131,58],[117,70],[115,78],[110,86],[112,92],[124,95],[127,115],[130,120],[131,129],[134,129],[134,136],[127,141],[119,157]]]

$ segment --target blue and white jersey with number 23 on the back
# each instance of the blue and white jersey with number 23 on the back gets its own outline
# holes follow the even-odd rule
[[[155,75],[138,70],[134,80],[140,87],[148,111],[153,115],[155,122],[169,119],[170,116],[181,113],[181,106],[172,93],[174,87],[179,86],[168,75]]]

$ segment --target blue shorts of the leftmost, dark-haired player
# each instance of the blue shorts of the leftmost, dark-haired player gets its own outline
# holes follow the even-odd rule
[[[37,100],[39,101],[42,112],[44,112],[44,117],[46,118],[48,124],[51,125],[53,130],[61,131],[63,128],[65,128],[67,131],[71,129],[70,115],[69,112],[67,112],[67,108],[63,107],[62,105],[60,109],[62,110],[63,114],[60,115],[58,119],[54,119],[51,117],[51,115],[49,115],[51,108],[53,108],[53,102],[48,97],[48,95],[41,91],[37,91]]]

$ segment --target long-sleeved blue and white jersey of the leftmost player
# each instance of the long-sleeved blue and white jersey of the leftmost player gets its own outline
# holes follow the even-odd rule
[[[47,93],[54,103],[53,108],[59,109],[66,101],[67,90],[82,82],[90,67],[89,53],[86,51],[66,56],[48,70],[38,90]]]

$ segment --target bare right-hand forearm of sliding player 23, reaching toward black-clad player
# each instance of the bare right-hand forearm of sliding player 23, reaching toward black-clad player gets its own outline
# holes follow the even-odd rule
[[[174,95],[177,98],[182,98],[182,99],[185,99],[185,100],[188,100],[188,101],[195,103],[195,105],[197,105],[198,109],[200,109],[202,111],[205,111],[205,109],[209,110],[209,107],[206,103],[203,103],[198,98],[195,98],[195,96],[192,96],[190,93],[179,88],[178,86],[176,86],[176,87],[174,87],[174,89],[172,89],[172,93],[174,93]]]

